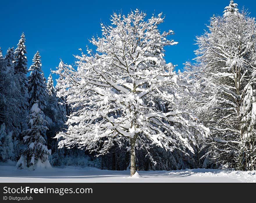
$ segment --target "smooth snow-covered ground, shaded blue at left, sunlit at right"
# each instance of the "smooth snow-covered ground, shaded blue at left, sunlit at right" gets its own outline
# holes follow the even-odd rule
[[[256,171],[186,169],[177,171],[108,171],[97,168],[53,167],[50,170],[18,170],[15,163],[0,163],[0,182],[256,182]]]

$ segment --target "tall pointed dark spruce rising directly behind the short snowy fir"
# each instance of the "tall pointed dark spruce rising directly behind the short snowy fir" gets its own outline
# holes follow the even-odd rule
[[[29,106],[30,108],[38,101],[38,106],[41,110],[46,108],[46,84],[43,76],[41,57],[37,51],[33,57],[33,64],[30,66],[30,75],[28,77],[28,94],[29,94]]]

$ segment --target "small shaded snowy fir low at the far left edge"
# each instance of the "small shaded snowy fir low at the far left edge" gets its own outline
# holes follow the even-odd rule
[[[6,126],[3,123],[0,127],[0,161],[5,162],[13,157],[12,131],[6,133]]]

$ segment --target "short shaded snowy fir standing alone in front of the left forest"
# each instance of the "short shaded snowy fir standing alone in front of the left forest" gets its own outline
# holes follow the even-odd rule
[[[17,162],[17,168],[28,168],[29,170],[50,168],[48,155],[51,154],[51,150],[47,149],[46,141],[42,136],[48,128],[38,103],[33,104],[31,107],[27,122],[29,129],[23,131],[26,149],[22,152]]]

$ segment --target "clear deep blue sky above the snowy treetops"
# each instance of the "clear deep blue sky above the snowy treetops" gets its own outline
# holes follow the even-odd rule
[[[143,10],[151,17],[163,12],[165,22],[160,26],[161,31],[173,30],[172,38],[179,42],[176,46],[166,48],[166,61],[177,64],[182,69],[183,63],[194,58],[197,48],[195,36],[201,35],[209,24],[213,14],[222,15],[229,0],[188,1],[188,0],[128,0],[128,1],[1,1],[1,32],[0,47],[3,54],[9,47],[16,45],[22,32],[26,36],[28,65],[32,64],[33,55],[39,50],[42,57],[42,69],[47,78],[56,69],[60,59],[67,64],[74,64],[73,55],[78,50],[86,49],[88,39],[93,35],[101,35],[99,23],[109,24],[113,11],[122,10],[127,14],[131,9]],[[239,8],[243,6],[256,16],[256,3],[252,0],[234,0]],[[56,76],[54,76],[56,79]],[[56,83],[55,83],[56,84]]]

